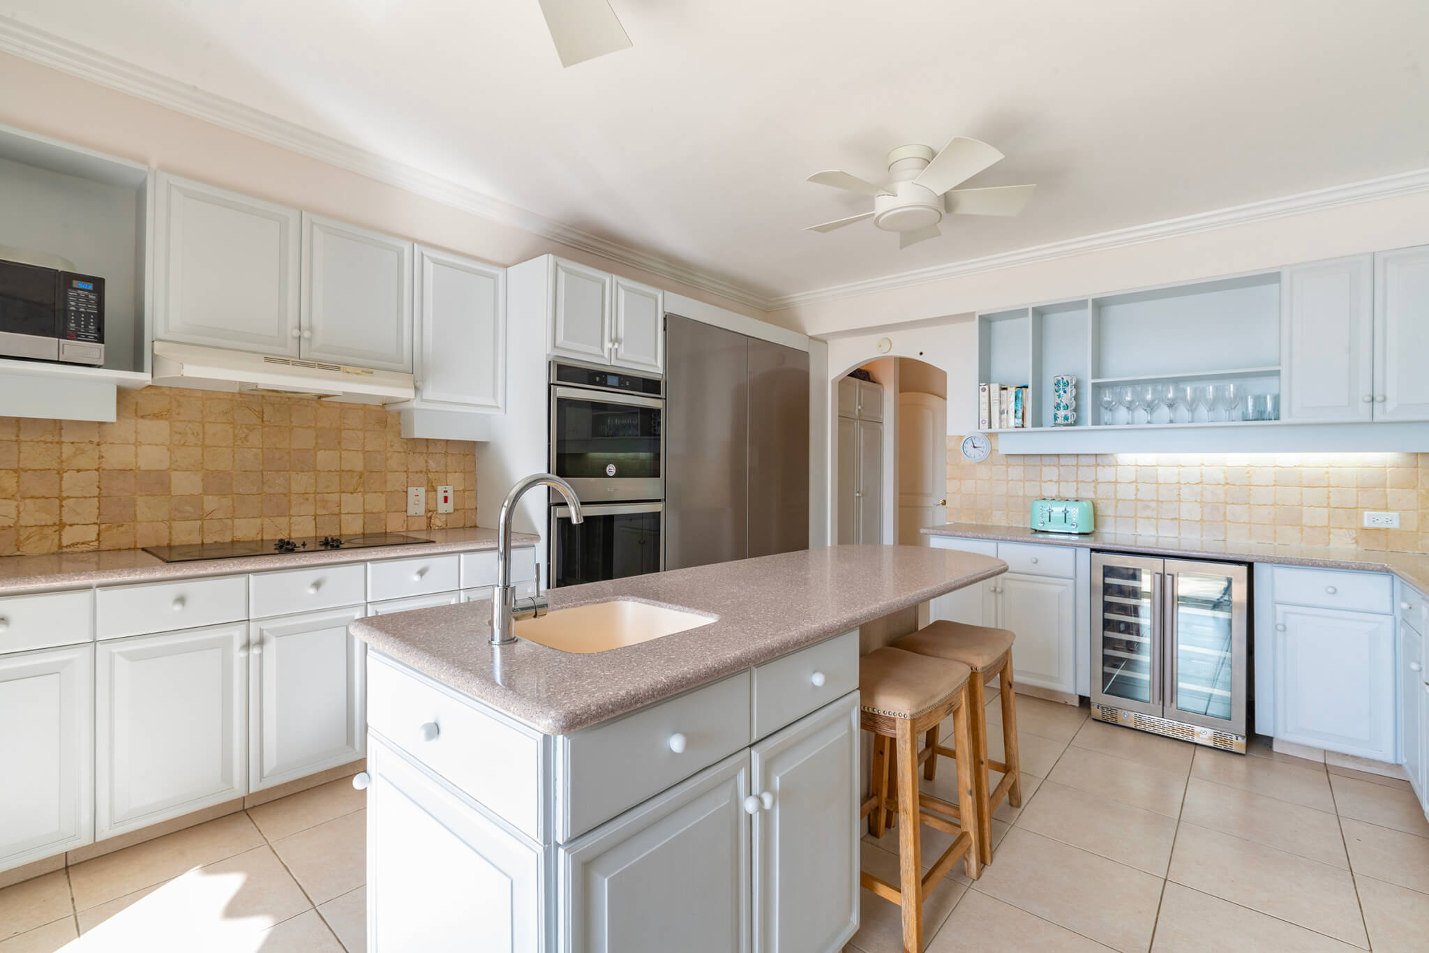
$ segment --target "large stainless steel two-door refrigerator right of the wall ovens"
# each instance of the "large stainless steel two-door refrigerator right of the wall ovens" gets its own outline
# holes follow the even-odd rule
[[[664,320],[664,567],[807,549],[807,351]]]

